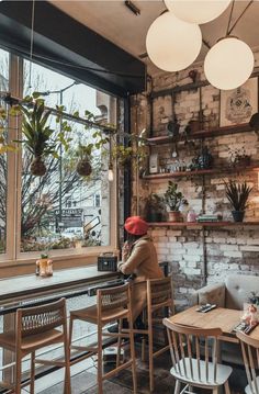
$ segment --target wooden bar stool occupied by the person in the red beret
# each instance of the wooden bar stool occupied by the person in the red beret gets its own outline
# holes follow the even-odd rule
[[[169,345],[160,348],[154,352],[154,323],[160,324],[162,326],[162,318],[170,317],[174,314],[174,305],[172,299],[172,281],[171,277],[161,278],[161,279],[151,279],[147,281],[147,313],[146,313],[146,326],[147,329],[135,329],[134,334],[144,334],[147,336],[148,340],[148,362],[149,362],[149,390],[154,391],[154,358],[162,354],[165,351],[169,350]],[[154,316],[155,313],[164,311],[164,316],[158,317]],[[127,331],[126,329],[123,331]],[[144,347],[145,338],[143,338],[142,344],[142,359],[144,359]]]

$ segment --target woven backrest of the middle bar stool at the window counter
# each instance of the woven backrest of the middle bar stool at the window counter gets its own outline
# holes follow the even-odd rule
[[[117,308],[130,308],[130,284],[123,284],[121,286],[100,289],[97,292],[98,297],[98,312],[112,311],[116,312]]]

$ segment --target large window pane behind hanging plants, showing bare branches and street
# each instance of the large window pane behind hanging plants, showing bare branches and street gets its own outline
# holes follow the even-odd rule
[[[24,95],[32,91],[42,92],[50,108],[64,105],[68,113],[83,116],[90,112],[100,117],[97,108],[97,91],[90,87],[33,65],[32,87],[27,86],[29,61],[24,63]],[[31,91],[30,91],[31,89]],[[69,122],[69,121],[68,121]],[[52,127],[59,132],[60,123],[50,120]],[[23,153],[22,173],[22,223],[21,251],[69,249],[110,244],[110,183],[103,149],[91,155],[92,173],[82,178],[76,171],[79,144],[88,146],[94,142],[94,127],[76,121],[69,122],[72,140],[68,151],[57,146],[58,159],[46,159],[47,172],[43,177],[30,173],[32,155]],[[97,138],[97,137],[95,137]],[[93,196],[99,195],[99,203]],[[103,214],[105,212],[105,215]]]

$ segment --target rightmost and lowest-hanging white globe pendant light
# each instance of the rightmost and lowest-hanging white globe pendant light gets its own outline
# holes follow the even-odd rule
[[[204,72],[212,86],[230,90],[247,81],[252,72],[254,63],[250,47],[236,37],[227,36],[209,50]]]

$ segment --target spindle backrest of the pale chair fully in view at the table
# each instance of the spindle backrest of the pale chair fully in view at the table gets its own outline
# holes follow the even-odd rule
[[[221,328],[192,328],[164,318],[174,371],[185,380],[216,383]],[[210,341],[209,341],[210,338]]]

